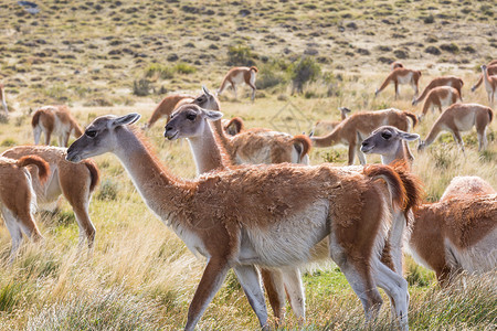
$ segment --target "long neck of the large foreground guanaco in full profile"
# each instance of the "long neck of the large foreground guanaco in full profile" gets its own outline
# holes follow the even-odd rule
[[[128,127],[117,127],[114,153],[129,173],[147,206],[166,224],[169,215],[180,212],[181,202],[191,200],[193,182],[176,179]],[[176,217],[173,217],[176,218]]]

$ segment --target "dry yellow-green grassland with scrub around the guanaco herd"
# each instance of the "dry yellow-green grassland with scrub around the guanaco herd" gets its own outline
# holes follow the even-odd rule
[[[41,1],[40,1],[41,2]],[[256,99],[222,97],[225,117],[247,127],[308,131],[318,119],[353,110],[411,106],[412,92],[373,92],[399,60],[430,78],[453,74],[465,102],[487,105],[480,87],[470,93],[478,67],[496,56],[497,17],[491,1],[54,1],[29,14],[15,2],[0,3],[0,82],[10,120],[0,124],[0,151],[32,143],[30,115],[46,104],[67,104],[82,125],[103,114],[140,113],[148,119],[171,92],[215,89],[233,61],[260,68]],[[427,51],[430,50],[430,52]],[[231,53],[230,53],[231,52]],[[320,68],[303,94],[292,95],[292,67],[306,55]],[[247,90],[245,89],[247,93]],[[292,109],[294,113],[289,113]],[[425,136],[430,115],[415,128]],[[147,132],[159,158],[178,175],[193,178],[188,143],[162,138],[163,122]],[[413,171],[436,201],[454,175],[479,175],[497,188],[497,121],[489,147],[477,151],[476,134],[464,137],[466,153],[443,135]],[[413,149],[415,145],[412,145]],[[342,147],[314,149],[311,163],[346,164]],[[42,245],[27,242],[17,260],[6,259],[10,236],[0,227],[0,329],[177,330],[204,265],[150,213],[116,158],[95,159],[103,182],[91,217],[97,228],[93,256],[77,249],[77,225],[68,204],[39,213]],[[368,157],[379,162],[377,157]],[[408,258],[410,327],[413,330],[495,330],[497,276],[465,276],[440,289],[432,271]],[[332,265],[308,270],[307,330],[363,328],[359,300]],[[387,300],[387,299],[385,299]],[[388,300],[387,300],[388,301]],[[390,330],[389,303],[371,328]],[[285,329],[296,329],[288,309]],[[230,274],[199,330],[255,330],[257,322]]]

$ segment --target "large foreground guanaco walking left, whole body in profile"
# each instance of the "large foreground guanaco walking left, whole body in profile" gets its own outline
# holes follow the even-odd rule
[[[187,181],[170,174],[139,130],[130,127],[139,117],[96,118],[68,148],[66,158],[78,162],[113,152],[156,215],[190,250],[208,258],[186,330],[194,329],[231,268],[261,327],[267,328],[255,265],[298,267],[325,237],[330,257],[361,299],[367,318],[377,316],[381,306],[379,286],[392,298],[401,329],[409,329],[408,282],[380,261],[391,222],[389,206],[406,201],[403,182],[392,168],[245,166]],[[388,192],[377,181],[380,178]]]

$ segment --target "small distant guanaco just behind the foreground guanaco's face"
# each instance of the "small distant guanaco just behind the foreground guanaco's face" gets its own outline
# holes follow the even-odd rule
[[[71,115],[66,106],[44,106],[33,114],[31,120],[33,127],[34,145],[40,143],[40,137],[45,135],[45,145],[50,145],[52,134],[57,136],[59,146],[67,147],[68,138],[83,135],[83,129]]]

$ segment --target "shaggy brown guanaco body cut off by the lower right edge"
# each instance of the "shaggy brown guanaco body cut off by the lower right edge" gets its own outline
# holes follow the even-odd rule
[[[462,270],[496,269],[497,194],[452,196],[423,204],[414,213],[409,250],[435,271],[442,286]]]

